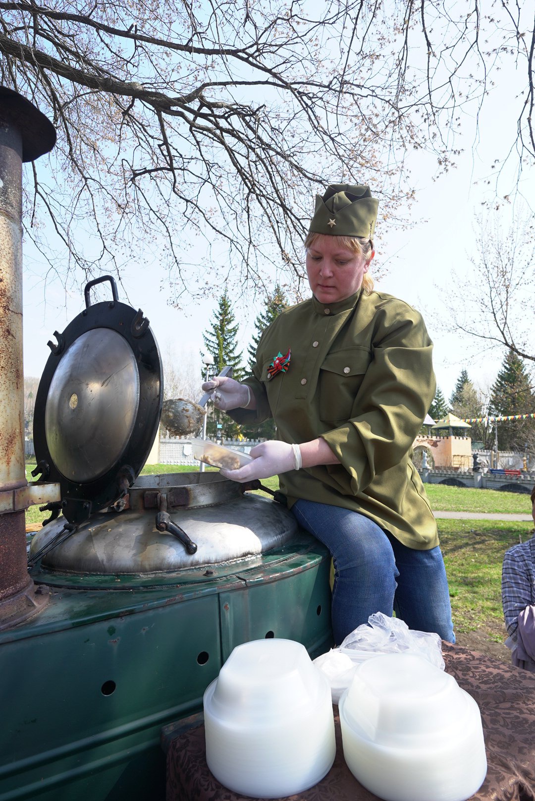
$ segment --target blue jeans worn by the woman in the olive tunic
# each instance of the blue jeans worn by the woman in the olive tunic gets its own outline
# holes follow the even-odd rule
[[[448,580],[440,548],[414,550],[358,512],[316,501],[292,506],[300,525],[332,554],[332,630],[336,645],[375,612],[409,629],[455,642]]]

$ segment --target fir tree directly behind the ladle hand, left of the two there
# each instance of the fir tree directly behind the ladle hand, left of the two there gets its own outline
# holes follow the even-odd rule
[[[232,368],[232,377],[237,381],[243,378],[245,372],[242,366],[243,352],[238,351],[236,343],[238,328],[239,326],[235,323],[234,312],[232,312],[231,302],[225,289],[225,292],[219,298],[219,308],[215,316],[215,322],[211,328],[203,333],[203,341],[206,352],[210,353],[214,360],[213,374],[217,375],[225,365],[229,364]],[[204,373],[203,380],[205,380]],[[222,429],[217,428],[218,423],[223,425]],[[238,432],[238,425],[230,417],[221,413],[219,409],[208,409],[208,437],[211,439],[215,437],[232,439]]]

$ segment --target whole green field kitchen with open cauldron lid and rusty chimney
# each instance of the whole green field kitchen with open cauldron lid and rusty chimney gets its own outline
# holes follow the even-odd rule
[[[2,145],[9,158],[15,145],[9,136]],[[18,153],[19,198],[20,163]],[[0,267],[20,300],[15,261]],[[332,643],[330,557],[287,509],[243,496],[217,473],[136,480],[159,425],[158,346],[113,283],[107,302],[91,305],[88,293],[86,309],[49,343],[34,416],[41,481],[31,486],[14,300],[9,363],[0,348],[0,398],[8,405],[17,394],[0,442],[18,443],[16,459],[0,465],[0,801],[163,801],[162,728],[202,709],[235,646],[289,638],[314,656]],[[23,518],[38,498],[50,522],[32,545],[28,590]],[[30,612],[19,608],[21,592]]]

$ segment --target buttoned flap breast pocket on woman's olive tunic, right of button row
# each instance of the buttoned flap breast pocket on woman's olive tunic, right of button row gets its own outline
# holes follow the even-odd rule
[[[371,361],[367,348],[345,348],[328,354],[320,368],[320,420],[349,420]]]

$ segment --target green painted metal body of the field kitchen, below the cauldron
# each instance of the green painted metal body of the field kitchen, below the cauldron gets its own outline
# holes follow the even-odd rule
[[[160,731],[202,709],[235,646],[332,645],[329,566],[301,533],[232,574],[35,571],[50,603],[0,633],[0,801],[163,801]]]

